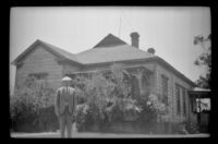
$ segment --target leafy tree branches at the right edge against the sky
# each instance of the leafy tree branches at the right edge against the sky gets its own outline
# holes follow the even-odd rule
[[[194,62],[195,65],[206,68],[206,74],[201,75],[196,81],[196,84],[203,88],[210,88],[211,47],[206,46],[208,43],[210,43],[210,34],[206,38],[201,35],[194,37],[194,45],[201,45],[204,50],[203,53]]]

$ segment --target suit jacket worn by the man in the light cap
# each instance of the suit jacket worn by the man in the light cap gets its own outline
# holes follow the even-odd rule
[[[77,96],[75,94],[75,89],[72,87],[60,87],[57,91],[57,96],[56,96],[56,115],[59,116],[63,113],[65,110],[66,106],[69,106],[69,111],[73,113],[75,111],[77,105]]]

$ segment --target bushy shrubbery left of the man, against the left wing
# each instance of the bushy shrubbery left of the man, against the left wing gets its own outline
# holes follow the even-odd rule
[[[14,95],[10,97],[11,129],[14,131],[55,130],[58,121],[53,111],[52,97],[55,91],[45,81],[25,77],[14,91]]]

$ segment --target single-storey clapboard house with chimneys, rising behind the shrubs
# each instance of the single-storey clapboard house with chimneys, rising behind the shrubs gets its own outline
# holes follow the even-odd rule
[[[137,33],[130,36],[131,45],[109,34],[93,48],[76,55],[36,40],[12,62],[16,67],[15,83],[26,75],[35,75],[58,88],[63,75],[106,71],[116,62],[138,75],[142,94],[154,93],[169,104],[171,121],[196,121],[189,97],[189,91],[196,85],[156,56],[154,48],[147,51],[140,49]]]

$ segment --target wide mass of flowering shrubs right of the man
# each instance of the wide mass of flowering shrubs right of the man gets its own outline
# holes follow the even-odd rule
[[[148,98],[132,96],[131,82],[125,81],[126,75],[131,74],[120,65],[113,65],[107,76],[104,73],[95,73],[92,79],[84,80],[83,93],[86,103],[77,107],[78,129],[84,130],[94,124],[101,128],[122,121],[150,122],[156,120],[158,115],[167,113],[167,106],[156,95]]]

